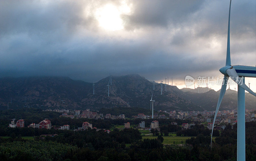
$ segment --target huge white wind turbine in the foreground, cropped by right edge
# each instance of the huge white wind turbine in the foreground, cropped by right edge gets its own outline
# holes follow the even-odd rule
[[[256,67],[249,66],[231,66],[230,60],[230,38],[229,38],[229,29],[230,29],[230,6],[231,0],[229,3],[229,14],[228,14],[228,42],[227,42],[227,56],[226,56],[226,65],[225,67],[220,68],[220,73],[224,74],[223,83],[220,90],[220,96],[215,111],[212,132],[214,128],[214,122],[220,108],[220,103],[224,97],[227,88],[228,78],[230,77],[233,81],[237,83],[237,160],[245,160],[245,90],[256,96],[250,88],[245,85],[244,77],[256,77]],[[212,138],[212,136],[211,136]],[[211,139],[212,146],[212,139]]]

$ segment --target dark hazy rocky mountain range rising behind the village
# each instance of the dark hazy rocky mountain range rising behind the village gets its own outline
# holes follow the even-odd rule
[[[20,77],[0,78],[0,108],[102,108],[102,107],[135,107],[150,108],[153,84],[138,74],[112,76],[95,83],[95,94],[92,94],[92,83],[72,80],[68,77]],[[200,89],[200,88],[199,88]],[[207,93],[183,92],[176,86],[163,84],[161,95],[160,84],[155,83],[153,94],[156,110],[215,110],[218,92]],[[202,88],[204,90],[204,88]],[[205,88],[206,91],[206,88]],[[221,108],[236,109],[236,93],[224,96]],[[12,102],[12,103],[11,103]],[[246,108],[256,108],[255,98],[246,94]],[[224,109],[222,108],[222,109]]]

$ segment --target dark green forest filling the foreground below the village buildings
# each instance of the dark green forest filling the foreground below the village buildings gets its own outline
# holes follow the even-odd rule
[[[236,126],[227,126],[212,148],[211,136],[203,130],[186,140],[188,146],[180,147],[163,145],[161,132],[156,139],[142,140],[133,128],[114,129],[109,134],[94,129],[7,129],[11,137],[0,138],[1,160],[236,160]],[[255,130],[256,122],[246,122],[246,160],[256,159]],[[35,134],[33,140],[21,137]],[[40,134],[57,135],[40,138]]]

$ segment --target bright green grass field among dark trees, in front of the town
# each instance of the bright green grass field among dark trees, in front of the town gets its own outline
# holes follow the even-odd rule
[[[157,138],[157,136],[142,136],[142,139],[147,139],[147,138],[155,139]],[[164,138],[163,144],[177,145],[177,144],[185,144],[186,140],[190,139],[191,136],[163,136],[163,138]],[[212,137],[212,140],[214,140],[215,138],[216,137]]]

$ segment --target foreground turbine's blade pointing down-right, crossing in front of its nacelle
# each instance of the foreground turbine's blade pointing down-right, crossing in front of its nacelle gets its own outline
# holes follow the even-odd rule
[[[254,93],[249,87],[247,87],[245,84],[243,84],[242,79],[238,76],[238,74],[236,73],[235,68],[232,69],[228,69],[227,71],[228,76],[237,83],[238,86],[242,87],[244,90],[246,90],[247,92],[249,92],[252,95],[256,96],[256,93]]]

